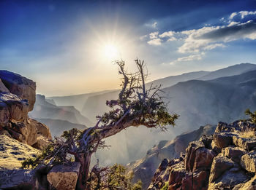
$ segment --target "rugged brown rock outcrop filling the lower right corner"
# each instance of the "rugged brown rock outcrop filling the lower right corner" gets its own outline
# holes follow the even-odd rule
[[[189,143],[186,154],[157,169],[148,190],[256,189],[256,131],[251,122],[219,122],[212,136]],[[165,174],[165,175],[163,175]],[[166,176],[169,175],[169,176]]]

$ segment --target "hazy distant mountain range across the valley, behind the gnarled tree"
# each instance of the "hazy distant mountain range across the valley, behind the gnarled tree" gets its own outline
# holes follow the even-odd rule
[[[162,90],[165,91],[165,101],[170,113],[180,114],[177,126],[167,132],[131,127],[107,139],[108,145],[111,145],[110,149],[98,151],[96,157],[103,165],[115,162],[126,164],[143,157],[146,150],[159,140],[170,140],[182,132],[195,130],[206,124],[232,122],[244,118],[246,108],[256,110],[255,76],[256,65],[241,63],[217,71],[198,71],[154,81],[154,84],[164,84]],[[118,90],[112,90],[78,96],[49,97],[46,101],[56,103],[58,108],[74,106],[94,123],[95,116],[108,111],[106,100],[116,99],[117,96]],[[61,108],[61,111],[69,111],[69,114],[64,116],[66,120],[80,124],[78,114],[75,117],[74,111],[67,110],[67,107]],[[42,110],[34,117],[40,118],[41,113]],[[49,115],[52,116],[45,118],[61,119],[53,117],[54,114]]]

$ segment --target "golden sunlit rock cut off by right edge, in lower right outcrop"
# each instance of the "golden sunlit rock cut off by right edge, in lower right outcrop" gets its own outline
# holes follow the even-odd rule
[[[241,157],[241,166],[249,173],[256,172],[256,151],[250,151]]]

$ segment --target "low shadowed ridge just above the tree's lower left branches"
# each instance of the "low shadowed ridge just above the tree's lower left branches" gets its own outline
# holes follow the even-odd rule
[[[86,125],[71,123],[61,119],[38,119],[37,121],[46,124],[50,128],[50,133],[52,136],[60,136],[64,130],[71,130],[72,128],[77,128],[78,130],[85,130]]]

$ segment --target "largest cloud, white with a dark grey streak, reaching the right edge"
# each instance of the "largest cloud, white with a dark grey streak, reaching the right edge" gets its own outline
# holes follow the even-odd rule
[[[178,47],[178,52],[200,52],[225,47],[225,43],[238,39],[256,39],[256,23],[249,20],[246,23],[230,23],[229,25],[203,27],[198,30],[183,31],[187,33],[184,44]]]

